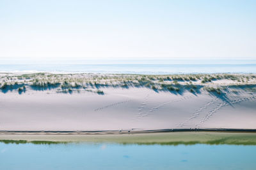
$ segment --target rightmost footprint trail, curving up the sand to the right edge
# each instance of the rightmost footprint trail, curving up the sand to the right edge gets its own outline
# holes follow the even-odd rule
[[[209,111],[207,113],[207,115],[205,115],[205,117],[198,123],[196,124],[196,127],[200,127],[200,125],[204,124],[204,122],[206,122],[207,120],[209,120],[210,117],[212,117],[212,115],[214,113],[216,113],[218,110],[220,110],[223,106],[228,106],[230,104],[236,104],[242,101],[254,101],[256,99],[256,96],[251,96],[251,97],[243,97],[242,99],[236,99],[233,101],[229,101],[229,102],[223,102],[218,104],[218,106],[216,108],[214,108],[213,110]]]

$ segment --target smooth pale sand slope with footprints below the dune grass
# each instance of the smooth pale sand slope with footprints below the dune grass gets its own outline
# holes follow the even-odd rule
[[[1,131],[94,131],[180,128],[256,129],[256,93],[216,97],[146,88],[73,94],[28,89],[0,93]]]

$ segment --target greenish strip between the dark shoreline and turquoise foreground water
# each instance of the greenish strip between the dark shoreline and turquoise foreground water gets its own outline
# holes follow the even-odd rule
[[[104,135],[0,135],[1,143],[54,145],[67,143],[120,143],[123,145],[256,145],[256,133],[162,132]]]

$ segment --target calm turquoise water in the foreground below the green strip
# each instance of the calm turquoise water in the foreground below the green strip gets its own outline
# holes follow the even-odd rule
[[[0,169],[255,169],[256,146],[0,143]]]

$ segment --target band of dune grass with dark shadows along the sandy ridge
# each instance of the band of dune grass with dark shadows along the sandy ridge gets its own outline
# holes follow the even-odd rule
[[[228,81],[228,84],[218,81]],[[208,92],[221,94],[221,87],[236,86],[244,88],[244,85],[255,85],[255,74],[168,74],[168,75],[144,75],[144,74],[6,74],[0,78],[0,90],[8,92],[22,85],[32,90],[57,89],[58,92],[77,92],[84,89],[96,89],[97,94],[102,94],[101,88],[125,88],[145,87],[155,91],[191,92],[198,93],[202,88]],[[216,87],[216,85],[218,87]],[[251,88],[251,87],[247,87]],[[62,90],[61,90],[62,89]],[[76,89],[76,90],[75,90]],[[99,90],[99,92],[97,91]],[[20,91],[21,92],[21,91]]]

